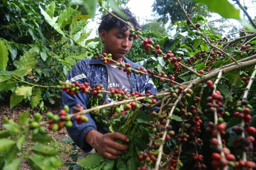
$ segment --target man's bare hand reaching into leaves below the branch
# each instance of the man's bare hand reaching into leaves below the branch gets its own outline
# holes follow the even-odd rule
[[[102,134],[96,130],[91,130],[85,136],[85,141],[95,148],[101,156],[108,159],[117,159],[128,150],[127,144],[115,142],[115,139],[119,139],[123,142],[129,142],[127,136],[118,132]]]

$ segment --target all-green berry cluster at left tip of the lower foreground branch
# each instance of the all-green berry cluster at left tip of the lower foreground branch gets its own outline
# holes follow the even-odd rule
[[[36,135],[38,133],[41,133],[41,134],[46,133],[44,126],[41,126],[39,123],[42,119],[43,119],[43,116],[38,112],[34,114],[34,119],[29,119],[29,123],[32,129],[33,135]]]

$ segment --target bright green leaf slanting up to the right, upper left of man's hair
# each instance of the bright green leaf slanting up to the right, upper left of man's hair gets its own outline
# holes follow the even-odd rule
[[[65,8],[58,17],[58,27],[61,29],[67,25],[70,17],[76,12],[76,9],[70,6]]]

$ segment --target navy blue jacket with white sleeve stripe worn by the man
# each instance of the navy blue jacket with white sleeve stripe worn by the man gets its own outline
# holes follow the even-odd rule
[[[129,59],[124,57],[126,63],[131,64],[131,68],[141,67],[141,65],[131,62]],[[154,86],[154,83],[148,75],[137,75],[134,72],[128,76],[129,82],[131,85],[132,92],[139,92],[145,94],[145,91],[150,90],[151,94],[157,93],[157,89]],[[108,90],[108,70],[100,59],[81,59],[77,62],[70,72],[67,75],[66,82],[75,82],[79,83],[88,82],[92,87],[94,84],[102,84],[105,90]],[[81,104],[84,109],[87,109],[87,102],[90,99],[91,95],[79,93],[78,95],[66,94],[65,91],[62,91],[62,103],[61,108],[64,105],[70,107],[70,114],[72,114],[73,106],[77,103]],[[102,103],[105,101],[106,94],[103,94]],[[89,118],[89,122],[83,122],[82,124],[77,124],[76,121],[73,121],[73,126],[67,128],[67,132],[70,137],[73,139],[76,145],[81,147],[85,152],[92,150],[92,147],[85,142],[85,136],[90,130],[97,130],[96,122],[93,119],[93,116],[86,114]]]

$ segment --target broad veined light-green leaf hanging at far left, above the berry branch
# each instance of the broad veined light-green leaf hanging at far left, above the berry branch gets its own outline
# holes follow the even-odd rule
[[[35,67],[35,51],[26,51],[19,60],[18,69],[26,70],[23,76],[28,75]]]

